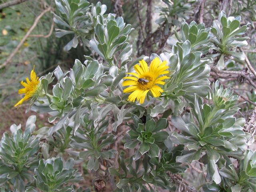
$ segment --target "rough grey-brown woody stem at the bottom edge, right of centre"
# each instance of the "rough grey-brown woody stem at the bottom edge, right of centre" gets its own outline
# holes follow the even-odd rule
[[[179,191],[182,192],[196,192],[194,186],[190,186],[187,180],[184,180],[180,175],[167,172],[172,182],[179,186]]]

